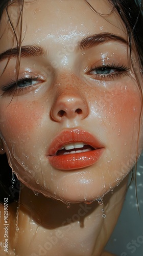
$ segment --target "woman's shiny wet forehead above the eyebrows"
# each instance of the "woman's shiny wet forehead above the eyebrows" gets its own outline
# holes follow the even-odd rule
[[[108,0],[34,0],[24,2],[22,16],[22,44],[44,44],[74,41],[90,34],[113,33],[127,39],[126,28]],[[17,26],[19,6],[12,4],[9,14]],[[2,20],[2,51],[13,45],[13,31],[7,25],[7,14]],[[18,27],[17,27],[18,28]],[[17,31],[19,31],[17,29]],[[17,32],[18,34],[18,32]],[[9,40],[6,38],[9,37]],[[7,44],[6,44],[7,42]],[[14,42],[16,46],[16,40]],[[49,45],[50,46],[50,45]],[[4,48],[4,49],[3,49]]]

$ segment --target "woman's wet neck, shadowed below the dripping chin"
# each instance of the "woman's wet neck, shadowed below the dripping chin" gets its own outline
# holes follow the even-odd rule
[[[127,182],[125,178],[112,193],[105,195],[102,205],[94,201],[89,205],[71,204],[70,208],[61,201],[41,194],[35,196],[29,188],[22,188],[17,210],[17,254],[41,250],[41,255],[101,255],[120,215]]]

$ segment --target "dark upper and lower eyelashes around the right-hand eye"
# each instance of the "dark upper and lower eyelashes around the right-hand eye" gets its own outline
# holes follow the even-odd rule
[[[92,71],[98,71],[98,70],[115,70],[114,72],[112,72],[111,74],[92,74]],[[103,72],[104,72],[103,71]],[[127,72],[129,71],[129,68],[125,65],[115,65],[115,63],[108,63],[108,64],[104,64],[103,66],[94,66],[92,68],[87,69],[87,74],[89,75],[93,75],[95,79],[97,80],[110,80],[110,79],[114,79],[114,78],[118,78],[121,75],[126,75]]]

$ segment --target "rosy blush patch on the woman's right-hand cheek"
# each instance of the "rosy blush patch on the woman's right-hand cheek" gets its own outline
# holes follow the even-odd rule
[[[106,100],[106,115],[110,119],[113,130],[118,128],[122,133],[130,133],[138,129],[141,112],[141,97],[135,90],[113,90]],[[116,127],[116,128],[115,128]],[[138,131],[138,130],[137,130]]]

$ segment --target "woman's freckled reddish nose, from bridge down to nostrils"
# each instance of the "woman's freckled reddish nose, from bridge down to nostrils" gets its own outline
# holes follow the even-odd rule
[[[52,119],[84,119],[89,112],[80,79],[73,74],[57,77],[54,86],[56,98],[51,109]]]

